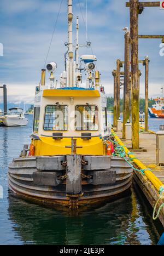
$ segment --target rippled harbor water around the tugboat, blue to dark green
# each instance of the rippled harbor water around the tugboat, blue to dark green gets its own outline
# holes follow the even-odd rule
[[[163,232],[137,186],[113,202],[73,215],[10,195],[7,169],[30,144],[32,115],[26,127],[0,127],[0,244],[157,244]],[[149,119],[158,130],[164,119]],[[3,192],[3,195],[2,195]]]

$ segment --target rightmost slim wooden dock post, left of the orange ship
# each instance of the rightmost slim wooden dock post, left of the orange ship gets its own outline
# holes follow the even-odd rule
[[[143,61],[143,66],[145,66],[145,132],[148,132],[148,88],[149,88],[149,57],[146,56]]]

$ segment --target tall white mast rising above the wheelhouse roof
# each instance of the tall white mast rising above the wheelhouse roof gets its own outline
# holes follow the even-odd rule
[[[69,87],[73,87],[73,43],[72,43],[72,0],[68,0],[68,63],[69,63]]]

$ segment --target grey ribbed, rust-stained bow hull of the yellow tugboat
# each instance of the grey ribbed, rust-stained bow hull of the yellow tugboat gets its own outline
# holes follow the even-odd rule
[[[42,185],[36,185],[38,181],[36,181],[35,173],[39,173],[39,175],[45,173],[45,178],[48,175],[61,177],[60,175],[65,173],[64,168],[63,170],[45,169],[44,172],[42,170],[38,172],[40,167],[38,167],[36,159],[36,157],[25,157],[13,160],[8,170],[9,189],[17,196],[49,206],[65,206],[68,209],[91,206],[121,195],[130,188],[132,183],[131,167],[121,158],[112,157],[110,158],[111,165],[106,170],[102,170],[101,167],[98,170],[83,170],[83,175],[80,175],[80,185],[77,180],[76,184],[73,184],[75,185],[74,192],[71,192],[72,186],[67,180],[68,175],[66,179],[57,180],[56,184],[51,184],[51,180],[54,179],[52,178],[50,181],[42,180]],[[96,180],[95,175],[97,174],[100,176]],[[105,179],[101,177],[101,174],[109,174],[110,177]]]

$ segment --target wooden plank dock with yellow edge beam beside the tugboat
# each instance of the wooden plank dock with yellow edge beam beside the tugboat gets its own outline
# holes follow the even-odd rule
[[[113,132],[113,136],[133,164],[133,178],[154,208],[153,219],[159,218],[164,226],[164,166],[156,166],[156,133],[140,128],[141,150],[131,150],[131,140],[121,139],[122,132]]]

